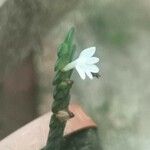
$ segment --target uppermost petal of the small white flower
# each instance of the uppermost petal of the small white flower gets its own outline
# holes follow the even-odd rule
[[[84,49],[79,57],[92,57],[96,51],[96,47],[89,47]]]

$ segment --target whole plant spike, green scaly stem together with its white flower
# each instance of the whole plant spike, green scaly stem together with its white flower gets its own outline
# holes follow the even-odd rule
[[[93,79],[98,77],[99,68],[96,63],[99,58],[93,57],[96,47],[84,49],[79,57],[72,61],[75,53],[75,45],[73,44],[74,28],[72,28],[64,42],[58,48],[58,59],[55,65],[56,75],[53,80],[55,86],[53,92],[53,104],[51,121],[49,124],[50,131],[48,140],[44,150],[61,150],[63,147],[63,131],[68,119],[74,117],[69,111],[70,89],[73,81],[70,79],[73,69],[79,73],[81,79],[85,79],[86,75]]]

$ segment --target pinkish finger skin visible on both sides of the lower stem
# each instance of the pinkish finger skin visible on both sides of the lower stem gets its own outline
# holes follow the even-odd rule
[[[96,124],[84,113],[79,105],[70,105],[70,111],[73,112],[75,116],[68,120],[64,136],[88,127],[96,127]],[[51,114],[52,113],[47,113],[33,120],[3,139],[0,142],[0,149],[39,150],[43,148],[47,140]]]

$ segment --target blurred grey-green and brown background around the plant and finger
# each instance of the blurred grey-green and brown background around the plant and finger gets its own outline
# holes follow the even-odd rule
[[[74,72],[72,101],[104,150],[150,149],[149,0],[0,0],[0,139],[50,110],[56,49],[76,28],[77,54],[96,46],[101,78]]]

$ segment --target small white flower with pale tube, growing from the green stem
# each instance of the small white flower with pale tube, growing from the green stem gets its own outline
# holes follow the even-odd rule
[[[73,68],[76,68],[77,72],[83,80],[86,78],[86,75],[90,79],[93,79],[92,73],[99,72],[99,68],[95,65],[97,62],[99,62],[99,58],[92,57],[95,51],[95,47],[84,49],[76,60],[67,64],[63,68],[63,71],[68,71]]]

